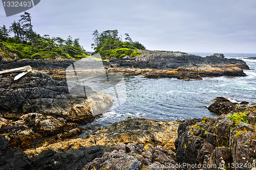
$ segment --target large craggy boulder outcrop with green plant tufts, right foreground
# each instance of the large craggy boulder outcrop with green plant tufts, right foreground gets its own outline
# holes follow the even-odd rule
[[[239,118],[238,115],[233,119],[228,117],[238,111],[242,111],[245,118]],[[245,165],[256,161],[256,134],[255,127],[252,126],[255,123],[256,105],[242,102],[235,105],[231,112],[216,118],[183,120],[175,141],[177,161],[189,164],[216,164],[223,168],[225,165],[227,169],[251,169],[249,166],[231,167],[231,163]]]

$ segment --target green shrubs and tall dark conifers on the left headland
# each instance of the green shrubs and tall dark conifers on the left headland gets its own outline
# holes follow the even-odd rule
[[[81,59],[90,56],[79,44],[79,38],[72,40],[69,36],[65,40],[36,34],[33,31],[31,18],[30,14],[25,12],[20,15],[18,21],[14,20],[9,30],[6,26],[0,27],[0,53],[4,58]],[[13,33],[14,37],[10,37],[10,33]]]

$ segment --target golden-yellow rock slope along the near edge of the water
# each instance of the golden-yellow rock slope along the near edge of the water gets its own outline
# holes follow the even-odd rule
[[[115,144],[134,143],[151,144],[154,147],[162,145],[170,154],[175,155],[175,139],[177,138],[178,122],[159,122],[142,118],[128,117],[119,123],[98,129],[86,139],[69,139],[56,143],[42,145],[40,148],[25,151],[30,157],[38,155],[43,150],[67,151],[92,145],[113,147]]]

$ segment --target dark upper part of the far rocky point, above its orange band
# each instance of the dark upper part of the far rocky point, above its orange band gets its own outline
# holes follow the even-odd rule
[[[111,63],[118,63],[119,67],[155,68],[155,69],[177,69],[179,67],[201,67],[212,66],[237,66],[249,69],[247,64],[238,59],[224,58],[223,54],[201,57],[180,52],[142,51],[142,55],[134,58],[110,59]]]

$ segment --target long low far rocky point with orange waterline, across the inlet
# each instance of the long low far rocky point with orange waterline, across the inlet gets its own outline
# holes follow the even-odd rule
[[[147,78],[178,78],[183,80],[202,77],[246,76],[248,65],[237,59],[224,58],[223,54],[200,57],[181,52],[141,51],[134,58],[111,58],[109,72],[125,75],[144,75]]]

